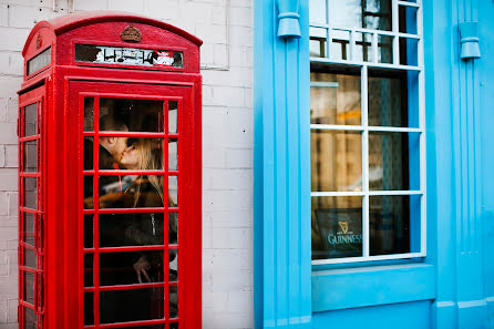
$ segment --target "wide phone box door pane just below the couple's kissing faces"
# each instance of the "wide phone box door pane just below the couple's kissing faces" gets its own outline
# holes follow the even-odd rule
[[[163,176],[100,176],[100,208],[163,207]]]

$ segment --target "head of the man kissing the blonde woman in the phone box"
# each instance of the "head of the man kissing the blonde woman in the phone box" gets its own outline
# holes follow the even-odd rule
[[[100,131],[128,132],[128,128],[123,121],[107,114],[100,119]],[[106,148],[116,162],[120,162],[122,153],[127,147],[127,137],[100,137],[100,145]]]

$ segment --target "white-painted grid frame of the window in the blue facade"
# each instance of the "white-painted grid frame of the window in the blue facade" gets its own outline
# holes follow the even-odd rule
[[[329,21],[329,1],[326,0],[326,21]],[[326,55],[327,58],[310,58],[310,61],[318,63],[329,64],[346,64],[360,68],[361,78],[361,125],[328,125],[328,124],[311,124],[310,130],[326,130],[326,131],[356,131],[362,133],[362,191],[361,192],[311,192],[311,197],[318,196],[362,196],[362,256],[360,257],[347,257],[347,258],[327,258],[312,260],[312,265],[328,265],[328,264],[346,264],[346,263],[362,263],[362,261],[375,261],[375,260],[391,260],[391,259],[406,259],[419,258],[426,256],[426,161],[425,161],[425,100],[424,100],[424,60],[423,60],[423,12],[422,0],[416,2],[391,0],[392,8],[392,30],[370,30],[361,28],[344,28],[332,27],[323,23],[309,23],[310,28],[326,29]],[[416,34],[402,33],[399,31],[399,7],[412,7],[416,8]],[[335,60],[330,59],[331,47],[331,32],[333,30],[344,30],[350,32],[350,55],[349,60]],[[372,34],[372,61],[363,62],[356,61],[356,33],[366,32]],[[379,63],[378,62],[378,35],[393,37],[393,63]],[[403,65],[400,64],[400,45],[399,38],[408,38],[418,40],[418,65]],[[369,126],[368,125],[368,70],[369,68],[384,68],[403,71],[418,72],[418,106],[419,106],[419,127],[391,127],[391,126]],[[320,83],[319,83],[320,84]],[[318,82],[311,82],[311,86],[318,85]],[[331,85],[328,85],[331,86]],[[369,132],[401,132],[401,133],[419,133],[420,134],[420,189],[419,191],[369,191]],[[420,209],[420,251],[406,253],[406,254],[392,254],[392,255],[370,255],[370,229],[369,229],[369,197],[370,196],[385,196],[385,195],[399,195],[421,196],[421,209]]]

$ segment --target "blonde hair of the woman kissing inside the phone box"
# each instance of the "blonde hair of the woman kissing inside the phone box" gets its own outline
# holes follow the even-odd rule
[[[157,142],[157,143],[156,143]],[[135,150],[138,153],[138,169],[140,171],[159,171],[163,169],[163,140],[156,141],[155,138],[140,138],[135,143]],[[142,175],[141,175],[142,178]],[[162,203],[164,204],[163,194],[163,176],[147,175],[151,185],[157,191]],[[137,185],[137,191],[134,195],[134,207],[137,205],[141,196],[141,185]]]

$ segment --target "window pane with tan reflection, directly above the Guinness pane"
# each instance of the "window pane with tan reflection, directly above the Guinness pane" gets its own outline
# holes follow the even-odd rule
[[[312,191],[362,189],[360,132],[312,131],[310,148]]]

